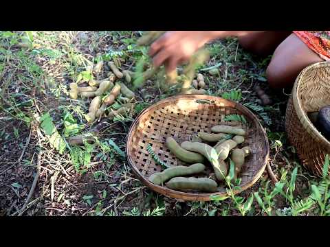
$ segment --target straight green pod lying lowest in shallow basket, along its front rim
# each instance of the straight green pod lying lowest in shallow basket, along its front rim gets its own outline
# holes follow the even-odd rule
[[[176,177],[170,179],[166,183],[166,187],[178,191],[194,189],[198,191],[215,192],[217,191],[217,183],[210,178],[184,178]]]

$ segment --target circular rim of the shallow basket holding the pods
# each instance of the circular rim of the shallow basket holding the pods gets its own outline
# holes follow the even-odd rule
[[[177,100],[177,99],[211,99],[211,100],[212,99],[213,100],[221,99],[224,102],[229,103],[228,105],[230,105],[234,108],[236,108],[236,106],[239,106],[239,108],[242,108],[243,110],[245,110],[245,112],[248,113],[252,117],[254,124],[256,125],[256,128],[259,128],[260,130],[262,130],[262,133],[263,133],[263,141],[265,142],[265,154],[263,156],[263,164],[261,165],[261,168],[259,169],[258,172],[256,172],[256,174],[254,175],[254,177],[251,180],[249,180],[248,182],[246,182],[245,184],[240,186],[241,190],[233,189],[233,192],[234,192],[234,194],[240,193],[240,192],[244,191],[245,189],[252,187],[254,185],[254,183],[256,183],[256,181],[259,180],[259,178],[265,171],[265,167],[269,160],[270,146],[268,143],[267,134],[265,132],[265,129],[263,128],[263,126],[261,126],[259,119],[257,119],[257,117],[248,108],[246,108],[242,104],[236,103],[230,99],[223,99],[222,97],[211,96],[211,95],[175,95],[172,97],[167,97],[166,99],[161,99],[161,100],[159,100],[159,102],[156,102],[155,104],[148,106],[148,108],[142,110],[142,112],[135,118],[135,120],[131,124],[129,133],[127,134],[127,137],[126,137],[126,148],[125,148],[127,161],[129,161],[129,166],[131,167],[133,172],[137,175],[137,178],[139,178],[139,180],[144,185],[149,187],[149,189],[152,189],[153,191],[156,191],[158,193],[162,193],[164,196],[168,196],[170,198],[175,198],[177,200],[179,199],[179,200],[183,200],[183,201],[188,201],[188,200],[190,200],[190,201],[209,201],[209,200],[211,200],[210,196],[227,195],[227,193],[220,192],[220,191],[217,191],[214,193],[189,193],[189,192],[175,191],[175,190],[169,189],[167,187],[155,185],[155,184],[151,183],[143,174],[141,174],[141,172],[139,171],[139,169],[137,169],[137,167],[135,165],[133,165],[133,158],[129,155],[129,153],[130,153],[129,152],[129,148],[130,148],[129,143],[131,143],[131,139],[133,138],[133,130],[135,129],[135,126],[139,123],[140,119],[142,119],[144,114],[146,114],[149,110],[151,110],[161,104],[164,104],[166,102],[170,102],[170,101]]]

